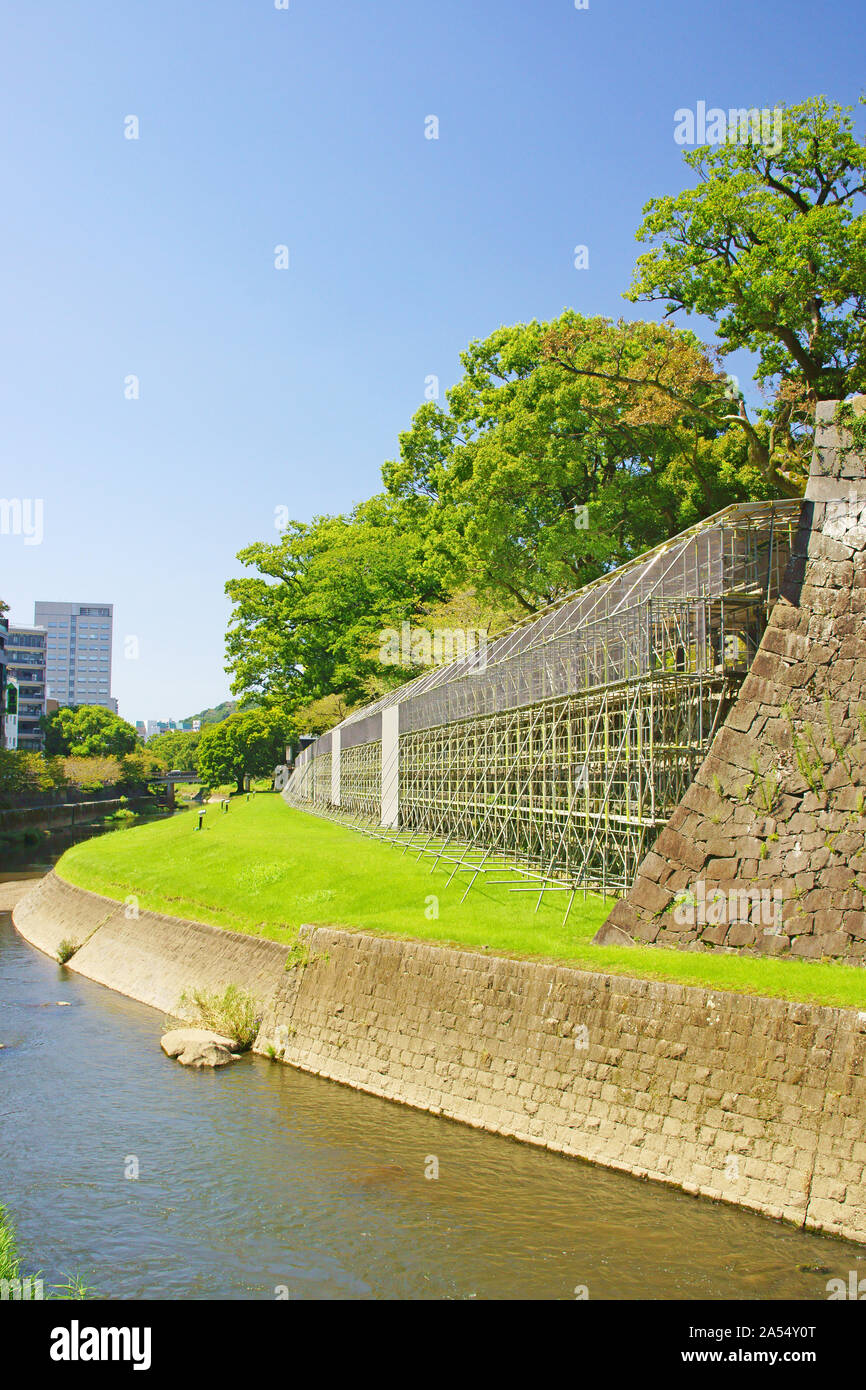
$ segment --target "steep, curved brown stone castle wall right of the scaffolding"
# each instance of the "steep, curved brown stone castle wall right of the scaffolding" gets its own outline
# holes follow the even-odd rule
[[[835,414],[755,662],[601,944],[866,963],[866,453]]]

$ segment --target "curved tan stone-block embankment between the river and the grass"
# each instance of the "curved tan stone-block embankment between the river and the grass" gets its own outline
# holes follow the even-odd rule
[[[14,922],[171,1011],[236,983],[256,1051],[374,1095],[866,1240],[866,1015],[329,927],[303,949],[142,912],[49,876]]]

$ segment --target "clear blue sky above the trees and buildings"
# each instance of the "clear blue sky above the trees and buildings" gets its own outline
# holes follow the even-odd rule
[[[35,599],[113,602],[128,719],[228,695],[236,552],[275,539],[279,506],[307,520],[377,491],[470,339],[635,313],[641,207],[691,179],[678,107],[863,86],[855,0],[0,17],[0,496],[44,509],[42,543],[0,535],[0,596],[18,623]]]

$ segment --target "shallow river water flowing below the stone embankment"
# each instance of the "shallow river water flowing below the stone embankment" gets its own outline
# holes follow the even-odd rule
[[[26,1272],[111,1298],[826,1298],[866,1251],[246,1056],[0,913],[0,1201]],[[428,1177],[438,1163],[438,1177]],[[128,1176],[135,1175],[138,1176]]]

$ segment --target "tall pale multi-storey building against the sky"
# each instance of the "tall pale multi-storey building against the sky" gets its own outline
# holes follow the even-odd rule
[[[113,603],[36,603],[46,631],[46,687],[60,705],[103,705],[111,696]]]

